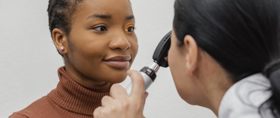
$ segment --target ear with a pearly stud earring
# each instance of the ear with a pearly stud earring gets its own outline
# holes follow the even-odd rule
[[[68,53],[67,35],[62,30],[58,28],[53,29],[52,40],[61,55],[66,55]]]

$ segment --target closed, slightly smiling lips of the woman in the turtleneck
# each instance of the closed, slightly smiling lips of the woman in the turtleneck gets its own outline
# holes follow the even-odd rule
[[[127,68],[129,66],[129,60],[131,59],[131,56],[125,55],[125,56],[114,56],[112,58],[105,59],[104,61],[116,68]]]

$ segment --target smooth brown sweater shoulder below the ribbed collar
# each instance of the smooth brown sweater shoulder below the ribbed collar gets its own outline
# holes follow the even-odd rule
[[[9,118],[60,118],[47,99],[47,96],[43,96],[26,108],[14,112]]]

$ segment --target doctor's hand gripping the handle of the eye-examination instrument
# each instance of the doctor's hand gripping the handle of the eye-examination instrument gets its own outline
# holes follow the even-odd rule
[[[128,71],[132,79],[132,92],[128,96],[119,84],[111,87],[110,96],[104,96],[102,106],[93,112],[94,118],[144,118],[143,109],[148,93],[145,92],[143,77],[138,71]]]

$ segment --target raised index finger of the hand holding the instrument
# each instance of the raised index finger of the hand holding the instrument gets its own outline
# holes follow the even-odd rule
[[[142,75],[138,71],[128,71],[127,74],[132,80],[131,96],[142,99],[145,91],[145,83]]]

